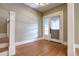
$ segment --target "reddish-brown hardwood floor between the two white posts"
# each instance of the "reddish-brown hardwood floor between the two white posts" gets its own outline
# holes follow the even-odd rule
[[[67,56],[67,47],[57,42],[38,40],[17,46],[16,56]]]

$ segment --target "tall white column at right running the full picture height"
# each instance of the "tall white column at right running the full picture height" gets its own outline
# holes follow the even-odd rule
[[[68,56],[75,56],[74,4],[68,3]]]

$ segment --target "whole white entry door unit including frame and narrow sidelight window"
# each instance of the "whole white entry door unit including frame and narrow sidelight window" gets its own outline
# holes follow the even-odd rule
[[[43,37],[47,40],[63,43],[63,11],[44,16]]]

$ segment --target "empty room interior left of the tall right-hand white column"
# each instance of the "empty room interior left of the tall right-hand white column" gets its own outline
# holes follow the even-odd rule
[[[67,56],[66,3],[0,3],[0,56]]]

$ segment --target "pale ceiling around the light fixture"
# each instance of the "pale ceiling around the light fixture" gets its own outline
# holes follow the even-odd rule
[[[59,6],[63,3],[49,3],[48,5],[40,6],[40,7],[38,5],[36,5],[35,3],[24,3],[24,4],[31,7],[31,8],[33,8],[33,9],[36,9],[36,10],[44,13],[44,12],[46,12],[46,11],[56,7],[56,6]]]

